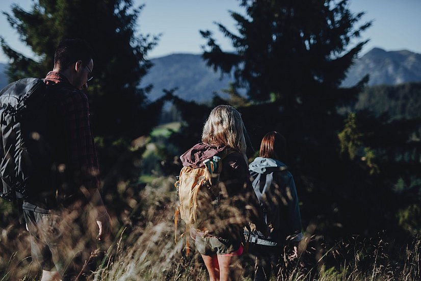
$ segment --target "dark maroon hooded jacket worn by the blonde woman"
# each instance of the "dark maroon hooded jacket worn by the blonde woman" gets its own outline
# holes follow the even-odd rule
[[[203,167],[203,161],[213,156],[222,156],[225,145],[198,143],[185,152],[180,159],[183,166]],[[226,151],[225,151],[226,152]],[[212,225],[210,234],[222,238],[240,239],[239,229],[252,222],[257,229],[266,229],[263,214],[253,192],[247,163],[236,151],[222,159],[219,176],[220,199],[216,208],[218,221]]]

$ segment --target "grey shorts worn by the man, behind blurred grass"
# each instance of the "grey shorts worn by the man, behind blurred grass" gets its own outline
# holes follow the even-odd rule
[[[56,213],[23,210],[23,215],[31,235],[32,261],[42,270],[58,271],[62,280],[71,280],[92,269],[94,261],[89,256],[96,244],[81,239],[83,235],[78,229],[83,228],[67,223]]]

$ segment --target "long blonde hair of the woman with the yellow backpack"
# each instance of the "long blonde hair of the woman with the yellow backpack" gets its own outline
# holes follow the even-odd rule
[[[231,106],[217,106],[207,118],[202,141],[208,144],[225,144],[246,157],[245,127],[241,114]]]

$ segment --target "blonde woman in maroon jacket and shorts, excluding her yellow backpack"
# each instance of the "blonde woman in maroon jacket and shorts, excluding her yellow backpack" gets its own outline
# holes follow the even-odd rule
[[[246,130],[240,113],[231,106],[217,106],[206,120],[202,142],[183,154],[183,166],[203,167],[203,161],[221,158],[218,205],[206,213],[206,231],[191,230],[210,280],[235,280],[230,265],[243,253],[243,227],[249,222],[265,232],[246,162]],[[212,214],[212,216],[211,216]]]

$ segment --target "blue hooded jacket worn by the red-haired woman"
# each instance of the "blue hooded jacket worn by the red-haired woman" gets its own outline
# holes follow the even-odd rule
[[[300,241],[301,217],[293,175],[282,162],[257,157],[250,165],[252,186],[270,228],[269,239],[280,244],[289,236]]]

